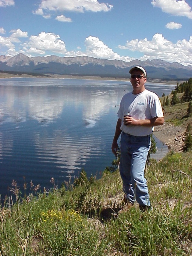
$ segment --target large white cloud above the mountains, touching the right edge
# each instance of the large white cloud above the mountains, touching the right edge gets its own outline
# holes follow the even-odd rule
[[[168,62],[179,62],[183,65],[192,65],[192,37],[187,41],[177,41],[173,44],[165,39],[162,34],[155,34],[151,41],[147,38],[142,40],[127,41],[120,49],[142,52],[144,56],[140,60],[162,59]]]

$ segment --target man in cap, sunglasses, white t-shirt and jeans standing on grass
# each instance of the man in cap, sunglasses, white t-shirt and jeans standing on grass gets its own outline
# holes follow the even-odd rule
[[[130,69],[133,91],[125,94],[117,113],[118,120],[112,143],[112,152],[117,155],[117,140],[121,134],[120,175],[123,180],[126,207],[138,202],[140,210],[151,206],[144,170],[151,147],[150,134],[154,126],[164,123],[161,102],[158,96],[145,89],[147,74],[143,67]],[[124,113],[129,112],[130,116]]]

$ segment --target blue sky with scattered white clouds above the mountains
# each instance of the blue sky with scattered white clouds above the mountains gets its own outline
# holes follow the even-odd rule
[[[192,65],[192,0],[0,0],[0,55]]]

